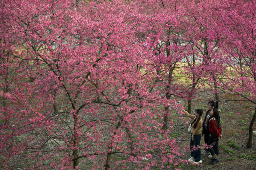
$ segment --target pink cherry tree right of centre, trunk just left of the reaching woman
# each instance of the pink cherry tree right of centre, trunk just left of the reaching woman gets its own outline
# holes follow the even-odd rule
[[[152,0],[145,1],[140,17],[140,25],[142,25],[142,37],[145,46],[151,55],[148,59],[151,61],[155,69],[156,76],[152,78],[154,89],[161,91],[162,99],[166,103],[162,111],[163,126],[166,130],[172,110],[172,106],[168,103],[175,101],[172,96],[180,96],[184,92],[181,88],[182,84],[178,82],[177,74],[175,75],[178,63],[184,57],[185,42],[180,41],[180,37],[184,32],[179,29],[178,25],[182,22],[183,4],[177,3],[175,0]],[[146,16],[146,17],[144,17]]]

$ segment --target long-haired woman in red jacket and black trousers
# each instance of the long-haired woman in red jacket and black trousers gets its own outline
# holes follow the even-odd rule
[[[212,155],[211,164],[216,164],[220,161],[219,158],[217,158],[219,154],[219,139],[222,137],[221,132],[222,129],[220,127],[220,112],[217,108],[213,108],[210,111],[210,121],[209,121],[209,131],[210,131],[210,138],[209,138],[209,151]]]

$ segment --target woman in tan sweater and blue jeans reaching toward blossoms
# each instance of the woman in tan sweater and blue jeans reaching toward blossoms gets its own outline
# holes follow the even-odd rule
[[[202,163],[201,160],[201,149],[200,149],[200,140],[201,140],[201,127],[203,124],[202,121],[202,114],[203,110],[202,109],[196,109],[195,110],[195,116],[190,115],[187,111],[183,110],[183,112],[191,118],[193,121],[190,124],[192,129],[191,129],[191,134],[190,134],[190,158],[188,159],[189,162],[193,162],[195,164],[200,164]]]

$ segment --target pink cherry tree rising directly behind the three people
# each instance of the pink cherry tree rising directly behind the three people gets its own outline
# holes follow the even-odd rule
[[[215,5],[221,4],[219,1],[199,1],[191,5],[188,13],[188,25],[191,29],[187,31],[187,37],[192,39],[192,47],[198,59],[200,69],[197,75],[206,84],[205,90],[214,92],[215,100],[220,100],[218,94],[218,82],[222,78],[223,51],[220,43],[223,41],[222,33],[218,29],[218,15],[214,15]],[[224,57],[225,58],[225,57]]]

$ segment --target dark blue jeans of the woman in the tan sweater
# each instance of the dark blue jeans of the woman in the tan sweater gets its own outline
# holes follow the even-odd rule
[[[194,141],[191,140],[191,137],[192,137],[192,133],[190,134],[190,154],[195,159],[195,162],[198,162],[201,160],[201,148],[200,148],[201,134],[194,135]]]

